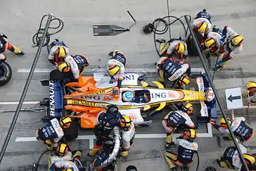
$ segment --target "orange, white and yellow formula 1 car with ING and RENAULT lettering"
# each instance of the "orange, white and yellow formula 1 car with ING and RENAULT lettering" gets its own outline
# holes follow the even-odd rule
[[[130,116],[135,125],[150,125],[152,121],[144,121],[141,112],[165,108],[167,104],[177,102],[200,102],[201,120],[209,121],[208,116],[216,109],[214,93],[204,74],[193,75],[199,91],[182,89],[165,89],[160,82],[152,82],[150,86],[141,81],[138,85],[139,74],[125,74],[122,87],[118,94],[113,93],[117,83],[109,84],[109,76],[104,73],[94,76],[81,76],[79,82],[70,82],[61,86],[59,82],[48,81],[50,98],[46,117],[72,116],[79,120],[82,128],[91,129],[96,125],[99,112],[111,104],[118,106],[122,114]],[[45,83],[44,83],[45,85]],[[126,102],[124,93],[132,92],[139,100]],[[46,100],[47,101],[47,100]],[[213,115],[213,114],[212,114]]]

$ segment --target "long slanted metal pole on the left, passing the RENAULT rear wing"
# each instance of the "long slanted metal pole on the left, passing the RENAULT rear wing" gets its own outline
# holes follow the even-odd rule
[[[3,146],[2,146],[2,149],[1,149],[1,153],[0,153],[0,164],[1,164],[1,161],[3,159],[3,155],[5,154],[5,150],[6,150],[7,146],[8,146],[8,142],[10,141],[10,138],[12,136],[12,131],[14,130],[16,121],[18,119],[18,114],[20,113],[21,106],[23,106],[23,102],[24,102],[25,96],[27,95],[27,90],[29,89],[29,84],[31,82],[31,78],[33,76],[33,72],[35,70],[36,64],[38,63],[39,55],[40,55],[40,52],[42,50],[42,45],[44,44],[44,39],[46,37],[46,33],[48,31],[48,27],[50,26],[50,22],[51,22],[52,18],[53,18],[53,14],[48,14],[48,20],[46,22],[44,33],[42,35],[42,40],[41,40],[41,42],[40,42],[40,44],[38,46],[38,52],[36,52],[35,59],[33,60],[33,64],[31,66],[31,70],[29,72],[29,76],[27,77],[27,82],[26,82],[25,87],[23,89],[23,93],[20,96],[20,101],[19,101],[19,104],[18,104],[18,106],[16,108],[14,116],[12,118],[12,123],[10,124],[10,127],[8,129],[8,134],[5,136],[5,140],[3,141]]]

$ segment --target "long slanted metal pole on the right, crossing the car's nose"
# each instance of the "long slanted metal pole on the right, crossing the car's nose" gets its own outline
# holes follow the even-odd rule
[[[218,92],[217,92],[217,90],[216,90],[216,88],[215,88],[215,86],[214,86],[214,83],[212,82],[210,73],[209,73],[209,71],[208,71],[208,69],[207,69],[206,63],[205,63],[205,61],[204,61],[204,60],[206,59],[206,58],[205,58],[205,55],[201,52],[201,49],[200,49],[200,47],[199,47],[199,44],[197,43],[197,42],[198,42],[198,41],[197,41],[197,37],[195,36],[195,33],[194,33],[194,31],[193,31],[193,29],[192,29],[192,27],[191,27],[191,25],[190,25],[190,22],[189,22],[187,16],[185,15],[184,18],[185,18],[185,20],[186,20],[186,24],[188,25],[188,29],[189,29],[189,31],[190,31],[190,35],[192,35],[192,37],[193,37],[193,43],[195,44],[195,46],[196,46],[196,48],[197,48],[197,51],[198,51],[198,53],[199,53],[199,57],[200,57],[200,59],[201,59],[201,62],[202,62],[202,64],[203,64],[203,67],[204,67],[204,69],[205,69],[205,74],[206,74],[206,76],[208,77],[208,80],[209,80],[209,82],[210,82],[210,84],[211,84],[211,86],[212,86],[212,90],[214,91],[214,95],[215,95],[216,101],[217,101],[217,103],[218,103],[218,107],[220,108],[221,113],[223,114],[223,118],[225,119],[225,121],[226,121],[226,123],[227,123],[227,128],[229,129],[229,132],[230,132],[230,134],[231,134],[231,138],[232,138],[232,140],[233,140],[233,143],[235,144],[236,148],[238,149],[238,153],[239,153],[239,155],[240,155],[240,158],[242,159],[242,163],[244,164],[244,167],[246,168],[247,171],[249,171],[249,170],[248,170],[248,166],[246,165],[246,162],[245,162],[245,160],[244,160],[244,157],[242,156],[242,152],[240,151],[240,148],[239,148],[239,146],[238,146],[238,142],[236,142],[236,137],[235,137],[235,135],[233,134],[233,131],[232,131],[232,129],[231,129],[230,125],[229,125],[229,122],[228,122],[228,120],[227,120],[227,116],[226,116],[226,114],[225,114],[225,111],[224,111],[224,109],[223,109],[223,106],[221,105],[221,99],[220,99],[220,97],[218,97]]]

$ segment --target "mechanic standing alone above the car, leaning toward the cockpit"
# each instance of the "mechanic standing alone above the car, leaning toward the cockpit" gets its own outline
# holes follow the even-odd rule
[[[109,52],[112,56],[108,61],[108,72],[111,76],[110,84],[117,81],[117,87],[120,89],[122,81],[124,80],[124,67],[126,66],[126,56],[119,50]]]

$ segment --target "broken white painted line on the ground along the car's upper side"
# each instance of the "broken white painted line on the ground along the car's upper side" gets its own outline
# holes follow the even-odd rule
[[[52,69],[35,69],[35,73],[49,73]],[[204,72],[203,68],[192,68],[191,72]],[[18,69],[18,73],[29,73],[30,69]],[[88,68],[85,72],[106,72],[105,68]],[[126,72],[156,72],[154,68],[127,68]]]

